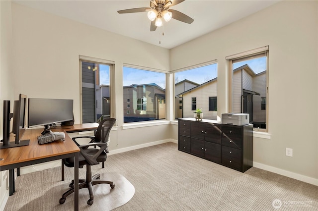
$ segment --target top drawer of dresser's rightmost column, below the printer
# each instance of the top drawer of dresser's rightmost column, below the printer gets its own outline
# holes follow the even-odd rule
[[[241,149],[242,130],[233,126],[222,126],[222,145]]]

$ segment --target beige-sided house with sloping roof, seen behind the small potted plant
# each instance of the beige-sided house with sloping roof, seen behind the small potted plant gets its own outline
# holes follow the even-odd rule
[[[183,101],[184,118],[194,117],[195,109],[200,108],[203,118],[217,120],[216,105],[211,109],[211,99],[217,100],[217,78],[180,93],[178,97]]]

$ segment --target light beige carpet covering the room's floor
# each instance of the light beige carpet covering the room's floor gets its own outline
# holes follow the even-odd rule
[[[50,184],[44,184],[45,175],[52,174],[49,171],[57,172],[57,176]],[[255,167],[241,173],[180,152],[177,144],[171,142],[111,155],[105,162],[104,170],[97,165],[93,169],[93,172],[96,171],[120,173],[135,187],[133,198],[114,211],[268,211],[275,210],[273,202],[281,203],[278,210],[318,210],[318,186]],[[68,170],[67,174],[71,178],[73,169]],[[68,182],[56,182],[60,179],[59,167],[32,175],[17,180],[17,186],[18,183],[23,185],[16,189],[25,188],[26,191],[19,198],[14,198],[15,195],[9,197],[5,210],[73,210],[73,201],[68,207],[58,203],[68,185]],[[105,176],[102,175],[103,178]],[[28,188],[28,183],[32,184],[32,189]],[[115,189],[117,187],[118,182]],[[87,196],[86,191],[83,193]],[[81,195],[83,193],[80,192]],[[103,201],[103,197],[96,197],[89,207],[86,205],[87,197],[81,198],[80,210],[104,211],[107,210],[105,204],[110,203],[99,204],[97,201]],[[24,204],[11,209],[14,203]]]

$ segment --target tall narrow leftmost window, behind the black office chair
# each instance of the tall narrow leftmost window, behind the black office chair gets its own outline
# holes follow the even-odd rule
[[[98,122],[114,113],[111,77],[114,62],[79,56],[81,73],[81,122]],[[114,95],[112,95],[114,96]]]

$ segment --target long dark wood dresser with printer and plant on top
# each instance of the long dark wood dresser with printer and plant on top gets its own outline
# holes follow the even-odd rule
[[[178,149],[244,172],[253,166],[253,125],[182,118],[178,120]]]

